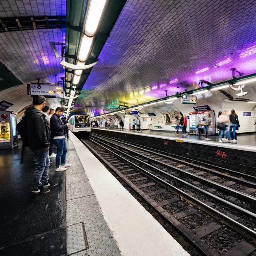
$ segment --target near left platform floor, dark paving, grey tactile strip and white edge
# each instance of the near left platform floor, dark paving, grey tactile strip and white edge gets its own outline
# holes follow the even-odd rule
[[[33,154],[0,151],[1,256],[189,256],[180,244],[70,132],[58,186],[30,195]]]

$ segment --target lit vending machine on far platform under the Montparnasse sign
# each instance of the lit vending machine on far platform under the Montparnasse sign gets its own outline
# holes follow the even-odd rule
[[[205,112],[209,113],[209,119],[210,119],[208,135],[215,135],[216,125],[215,125],[215,113],[213,110],[197,111],[197,112],[189,113],[189,119],[190,119],[189,133],[190,134],[197,134],[197,135],[199,134],[197,125],[203,121]],[[201,134],[205,134],[205,131],[204,133],[201,133]]]

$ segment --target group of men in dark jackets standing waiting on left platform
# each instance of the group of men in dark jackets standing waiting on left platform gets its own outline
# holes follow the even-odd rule
[[[66,163],[67,147],[64,130],[70,123],[64,124],[61,116],[65,108],[58,107],[54,111],[46,106],[46,99],[42,95],[33,97],[32,106],[26,108],[26,132],[29,148],[34,153],[35,172],[32,182],[32,195],[50,192],[50,187],[58,183],[49,180],[50,159],[55,158],[55,171],[66,171],[71,166]],[[25,121],[24,121],[25,122]],[[52,152],[53,145],[57,147],[57,154]]]

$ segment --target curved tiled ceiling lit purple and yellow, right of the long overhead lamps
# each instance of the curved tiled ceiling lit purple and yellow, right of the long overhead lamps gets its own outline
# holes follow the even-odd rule
[[[232,79],[233,67],[256,73],[255,10],[247,0],[128,0],[75,108],[162,98]]]

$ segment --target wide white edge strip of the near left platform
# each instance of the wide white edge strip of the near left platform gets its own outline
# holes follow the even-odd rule
[[[189,256],[71,132],[70,138],[122,256]]]

